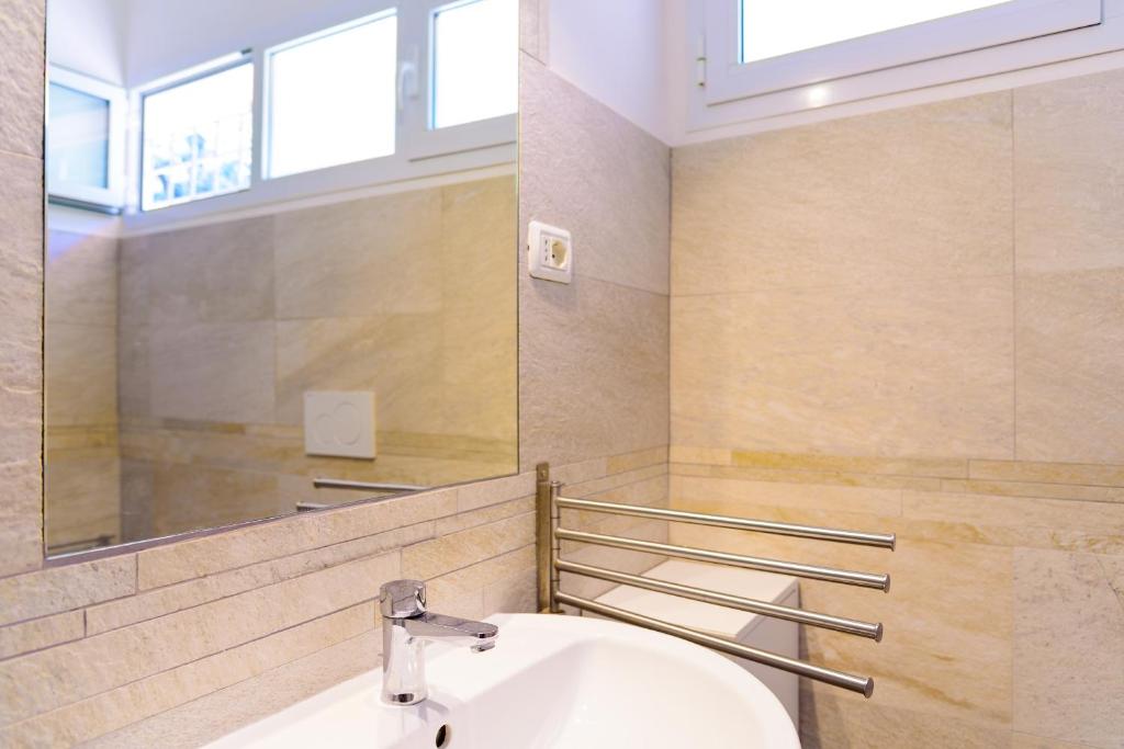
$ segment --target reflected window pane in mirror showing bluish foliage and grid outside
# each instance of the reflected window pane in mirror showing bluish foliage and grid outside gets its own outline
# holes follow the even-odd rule
[[[253,102],[250,62],[146,93],[140,209],[250,188]]]

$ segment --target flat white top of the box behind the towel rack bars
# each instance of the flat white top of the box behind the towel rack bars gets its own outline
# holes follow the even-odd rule
[[[799,605],[797,579],[787,575],[671,559],[643,573],[643,576],[767,603]],[[765,619],[747,611],[626,586],[615,587],[597,600],[610,606],[735,640],[747,638]]]

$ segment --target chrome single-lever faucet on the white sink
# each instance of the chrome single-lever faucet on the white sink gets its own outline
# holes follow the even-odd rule
[[[429,696],[425,681],[426,642],[466,645],[475,652],[496,646],[499,628],[487,622],[426,611],[425,583],[396,579],[379,588],[382,612],[382,701],[416,705]]]

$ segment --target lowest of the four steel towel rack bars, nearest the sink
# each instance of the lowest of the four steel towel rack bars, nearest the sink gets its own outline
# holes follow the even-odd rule
[[[564,603],[595,614],[608,616],[609,619],[616,619],[629,624],[635,624],[636,627],[643,627],[645,629],[655,630],[656,632],[663,632],[664,634],[672,634],[674,637],[682,638],[688,642],[713,648],[729,656],[747,658],[749,660],[764,664],[765,666],[772,666],[773,668],[780,668],[781,670],[786,670],[791,674],[814,678],[817,682],[825,682],[833,686],[850,689],[851,692],[858,692],[865,697],[869,697],[874,692],[874,679],[869,676],[854,676],[844,672],[837,672],[833,668],[814,666],[803,660],[786,658],[785,656],[779,656],[774,652],[769,652],[768,650],[751,648],[738,642],[724,640],[720,637],[714,637],[713,634],[699,632],[698,630],[694,630],[688,627],[680,627],[659,619],[652,619],[631,611],[617,609],[616,606],[609,606],[604,603],[597,603],[596,601],[579,597],[577,595],[570,595],[569,593],[563,593],[561,591],[554,595],[559,603]]]

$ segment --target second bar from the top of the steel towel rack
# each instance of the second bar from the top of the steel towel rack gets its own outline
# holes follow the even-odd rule
[[[566,528],[555,529],[554,537],[562,541],[579,541],[582,544],[593,544],[596,546],[608,546],[616,549],[646,551],[649,554],[678,557],[680,559],[694,559],[695,561],[708,561],[711,564],[758,569],[767,573],[795,575],[796,577],[821,579],[828,583],[843,583],[845,585],[858,585],[859,587],[872,587],[879,591],[890,590],[889,575],[860,573],[852,572],[850,569],[836,569],[834,567],[818,567],[815,565],[803,565],[795,561],[782,561],[780,559],[765,559],[763,557],[747,557],[740,554],[727,554],[725,551],[696,549],[688,546],[672,546],[671,544],[659,544],[656,541],[641,541],[638,539],[624,538],[620,536],[587,533],[584,531],[569,530]]]

